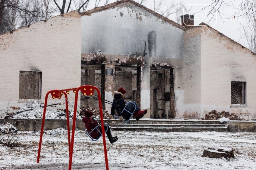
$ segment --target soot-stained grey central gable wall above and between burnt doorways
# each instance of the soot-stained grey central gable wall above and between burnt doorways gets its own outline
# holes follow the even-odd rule
[[[113,91],[119,86],[129,84],[126,84],[125,80],[119,80],[126,75],[119,76],[121,73],[116,70],[116,67],[137,67],[136,79],[132,79],[132,86],[127,86],[128,91],[134,94],[128,94],[126,97],[137,101],[142,110],[147,109],[148,114],[145,117],[149,118],[150,98],[153,95],[150,88],[152,64],[173,67],[177,78],[174,82],[177,87],[183,89],[184,29],[131,2],[102,11],[97,9],[92,11],[97,12],[85,12],[81,19],[82,64],[102,64],[106,68],[114,69],[113,76],[105,77],[105,99],[107,100],[113,100]],[[127,74],[130,75],[129,72]],[[133,87],[135,81],[137,90]],[[169,86],[174,90],[174,85]],[[175,100],[174,95],[172,100]],[[163,107],[170,107],[170,103],[172,103],[172,113],[169,108],[168,113],[165,113],[166,117],[175,115],[174,102],[169,101],[169,105],[165,103]],[[181,107],[183,103],[179,108]]]

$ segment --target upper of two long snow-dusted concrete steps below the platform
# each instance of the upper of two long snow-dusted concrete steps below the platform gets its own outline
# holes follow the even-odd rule
[[[203,127],[228,127],[226,124],[107,124],[111,127],[152,127],[152,128],[169,128],[169,127],[182,127],[182,128],[203,128]]]

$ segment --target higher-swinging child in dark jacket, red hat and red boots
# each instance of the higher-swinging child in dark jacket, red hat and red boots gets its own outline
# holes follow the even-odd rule
[[[124,101],[124,95],[126,94],[126,90],[123,87],[120,87],[118,91],[114,91],[114,100],[111,107],[111,116],[114,118],[115,110],[119,116],[119,121],[123,122],[124,119],[128,120],[131,116],[131,114],[124,111],[122,113],[122,110],[125,107],[125,101]],[[133,113],[133,116],[136,118],[136,120],[140,120],[145,114],[147,114],[147,110],[141,111],[138,107],[138,104],[136,102],[133,102],[136,105],[136,110]]]

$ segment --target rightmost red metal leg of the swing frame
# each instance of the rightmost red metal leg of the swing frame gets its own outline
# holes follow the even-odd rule
[[[102,138],[103,138],[103,147],[105,154],[105,162],[106,162],[106,170],[109,170],[109,163],[107,160],[107,146],[106,146],[106,138],[105,138],[105,129],[104,129],[104,121],[103,121],[103,113],[102,113],[102,105],[101,105],[101,97],[100,91],[97,87],[94,87],[98,93],[99,107],[100,107],[100,122],[101,122],[101,130],[102,130]]]

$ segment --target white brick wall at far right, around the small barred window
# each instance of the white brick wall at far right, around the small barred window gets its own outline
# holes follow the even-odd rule
[[[225,110],[255,119],[255,54],[204,27],[201,42],[201,113]],[[231,81],[246,82],[248,107],[230,107]]]

